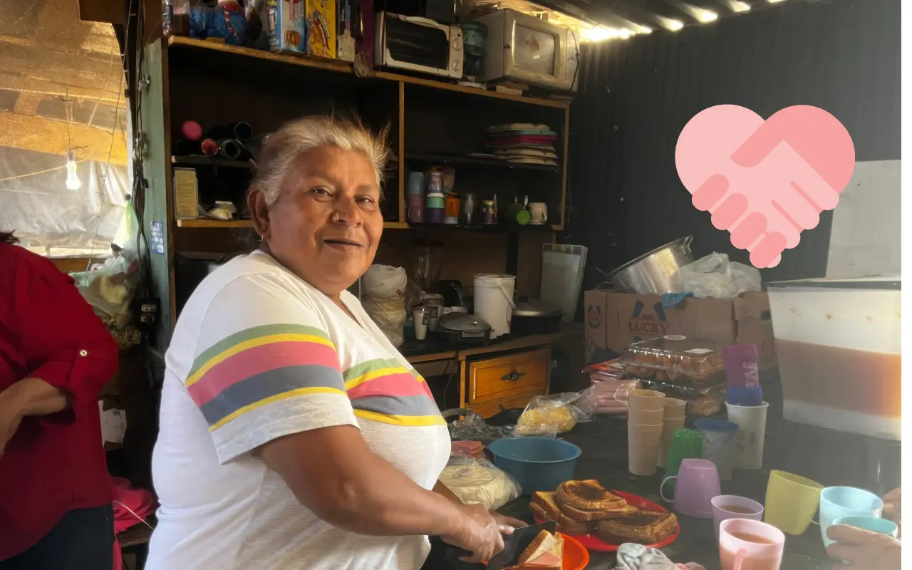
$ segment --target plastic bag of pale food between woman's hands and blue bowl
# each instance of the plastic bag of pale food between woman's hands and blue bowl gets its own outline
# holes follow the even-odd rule
[[[519,482],[491,461],[465,455],[452,456],[439,479],[462,503],[482,504],[489,511],[523,493]]]

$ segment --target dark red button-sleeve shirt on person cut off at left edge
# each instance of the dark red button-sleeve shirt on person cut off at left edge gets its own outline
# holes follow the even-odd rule
[[[35,377],[72,401],[24,418],[0,457],[0,560],[36,544],[67,511],[110,504],[98,390],[117,358],[117,343],[71,277],[0,244],[0,391]]]

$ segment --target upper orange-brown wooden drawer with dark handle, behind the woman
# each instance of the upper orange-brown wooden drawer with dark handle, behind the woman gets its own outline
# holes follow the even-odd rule
[[[469,403],[546,393],[550,374],[550,348],[472,362],[469,364]]]

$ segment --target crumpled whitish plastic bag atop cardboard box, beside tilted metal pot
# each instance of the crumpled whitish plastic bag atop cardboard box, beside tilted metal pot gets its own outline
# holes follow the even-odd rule
[[[680,292],[698,298],[736,297],[745,291],[760,291],[760,271],[729,261],[727,254],[713,253],[681,267],[678,285]]]

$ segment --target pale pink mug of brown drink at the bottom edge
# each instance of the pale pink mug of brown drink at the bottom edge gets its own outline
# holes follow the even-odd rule
[[[779,570],[785,534],[772,524],[750,519],[722,521],[719,561],[722,570]]]

